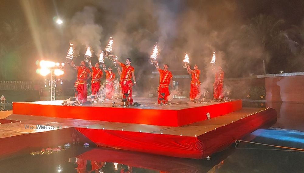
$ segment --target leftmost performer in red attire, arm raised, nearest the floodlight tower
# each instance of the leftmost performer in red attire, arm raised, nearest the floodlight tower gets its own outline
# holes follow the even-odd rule
[[[75,66],[74,62],[71,62],[72,66]],[[81,61],[80,66],[76,66],[77,70],[77,80],[74,87],[77,91],[77,98],[80,104],[87,101],[88,91],[87,91],[87,80],[92,76],[90,70],[85,67],[85,62]]]

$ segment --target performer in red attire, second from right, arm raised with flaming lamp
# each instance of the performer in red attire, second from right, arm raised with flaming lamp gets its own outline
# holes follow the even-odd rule
[[[190,100],[193,101],[195,98],[199,97],[199,86],[201,82],[199,81],[200,71],[197,65],[194,65],[194,70],[190,69],[188,66],[188,73],[191,74],[191,82],[190,82]]]

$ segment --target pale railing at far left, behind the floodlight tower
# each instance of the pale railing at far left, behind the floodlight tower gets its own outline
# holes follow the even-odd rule
[[[34,82],[1,80],[0,90],[34,90]]]

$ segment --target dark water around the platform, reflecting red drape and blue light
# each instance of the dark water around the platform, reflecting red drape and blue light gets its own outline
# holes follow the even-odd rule
[[[266,103],[266,106],[277,110],[277,123],[270,128],[254,131],[243,140],[304,149],[304,104]],[[84,168],[79,172],[98,173],[304,172],[304,152],[282,150],[286,149],[240,142],[213,154],[210,160],[193,160],[72,145],[71,148],[49,155],[28,153],[2,160],[0,173],[76,173],[76,168]],[[75,163],[76,158],[78,164]]]

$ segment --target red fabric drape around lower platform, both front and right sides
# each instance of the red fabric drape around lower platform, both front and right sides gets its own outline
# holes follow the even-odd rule
[[[276,120],[276,111],[267,109],[198,137],[86,128],[76,128],[76,130],[101,147],[202,159],[224,150],[235,140]]]

